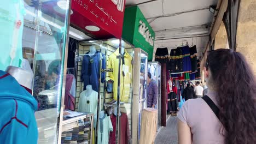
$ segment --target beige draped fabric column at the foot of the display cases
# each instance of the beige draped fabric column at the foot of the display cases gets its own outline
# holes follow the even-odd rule
[[[146,108],[142,112],[139,144],[152,144],[155,141],[158,124],[158,110]]]

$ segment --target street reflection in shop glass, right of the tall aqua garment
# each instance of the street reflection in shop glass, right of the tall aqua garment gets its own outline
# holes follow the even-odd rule
[[[68,17],[67,10],[57,2],[24,0],[22,47],[34,73],[32,95],[39,103],[35,113],[38,143],[57,142]]]

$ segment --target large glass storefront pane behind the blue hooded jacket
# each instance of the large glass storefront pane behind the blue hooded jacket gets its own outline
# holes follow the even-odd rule
[[[57,143],[69,1],[4,1],[0,6],[1,67],[33,71],[38,143]],[[10,54],[8,54],[10,53]],[[21,75],[20,75],[21,76]]]

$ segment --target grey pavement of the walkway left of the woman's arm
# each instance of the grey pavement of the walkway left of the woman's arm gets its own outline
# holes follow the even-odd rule
[[[155,144],[178,144],[177,116],[171,116],[156,136]]]

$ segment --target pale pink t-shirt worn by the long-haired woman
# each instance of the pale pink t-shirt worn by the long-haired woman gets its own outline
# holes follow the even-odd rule
[[[208,92],[207,95],[217,105],[216,92]],[[194,144],[224,143],[222,124],[203,99],[186,101],[178,112],[178,118],[190,127]]]

